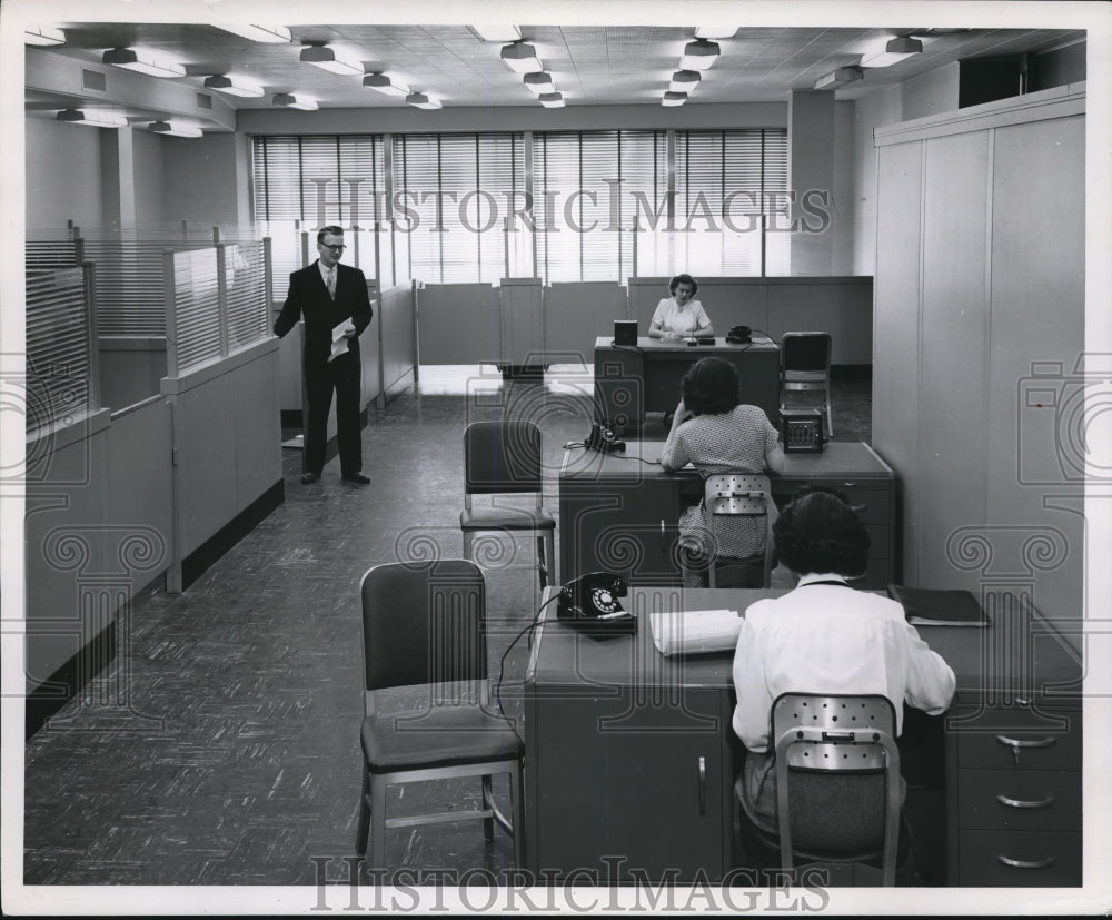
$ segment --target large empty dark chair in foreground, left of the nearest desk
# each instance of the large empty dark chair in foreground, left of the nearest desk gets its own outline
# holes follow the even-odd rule
[[[487,840],[494,838],[494,821],[513,835],[515,863],[522,865],[525,746],[489,708],[483,573],[466,560],[387,563],[366,572],[359,593],[366,692],[356,852],[366,854],[369,837],[371,864],[383,867],[387,828],[480,819]],[[393,687],[415,695],[427,691],[428,700],[418,709],[379,713],[376,694]],[[512,820],[494,802],[496,773],[509,780]],[[386,817],[387,787],[460,776],[481,778],[479,808]]]

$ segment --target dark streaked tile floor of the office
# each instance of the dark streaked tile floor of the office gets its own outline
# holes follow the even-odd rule
[[[424,368],[419,387],[371,408],[369,486],[332,461],[312,486],[284,449],[286,501],[186,593],[150,592],[125,647],[26,748],[28,884],[315,884],[346,881],[361,758],[358,584],[374,563],[461,553],[464,426],[503,412],[540,424],[545,503],[555,511],[563,444],[589,427],[590,377],[554,368],[503,382],[489,368]],[[867,441],[870,384],[835,386],[837,439]],[[663,437],[659,417],[645,437]],[[294,432],[286,432],[289,437]],[[532,545],[488,558],[490,660],[536,603]],[[504,702],[522,711],[524,643],[506,660]],[[116,689],[119,687],[117,691]],[[474,802],[477,783],[406,799]],[[499,873],[512,844],[474,822],[394,830],[391,868]]]

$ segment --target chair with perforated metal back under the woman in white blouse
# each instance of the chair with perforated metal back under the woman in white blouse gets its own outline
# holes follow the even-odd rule
[[[891,701],[783,693],[771,718],[778,834],[742,810],[746,853],[786,871],[824,869],[832,884],[894,884],[907,847]]]

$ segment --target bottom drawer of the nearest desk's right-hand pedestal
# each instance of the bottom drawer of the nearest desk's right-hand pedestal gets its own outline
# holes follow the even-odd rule
[[[960,886],[1081,884],[1081,834],[1066,832],[962,831]]]

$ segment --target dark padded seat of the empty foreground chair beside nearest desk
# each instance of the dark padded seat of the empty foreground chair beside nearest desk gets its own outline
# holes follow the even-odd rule
[[[369,715],[360,731],[371,773],[516,760],[525,745],[502,716],[477,705]]]

